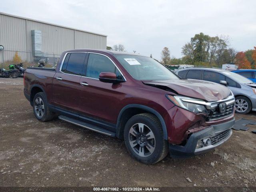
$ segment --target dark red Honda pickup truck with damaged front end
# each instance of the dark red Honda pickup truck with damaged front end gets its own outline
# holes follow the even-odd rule
[[[182,80],[156,60],[127,52],[68,50],[56,69],[28,68],[24,94],[40,121],[61,120],[124,139],[153,164],[186,157],[230,138],[234,96],[225,86]]]

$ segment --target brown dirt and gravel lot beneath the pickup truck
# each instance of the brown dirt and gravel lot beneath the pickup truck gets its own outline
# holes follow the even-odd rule
[[[256,113],[236,118],[256,120]],[[207,154],[148,166],[121,140],[57,118],[39,122],[22,78],[0,78],[0,186],[256,186],[255,129],[233,130]]]

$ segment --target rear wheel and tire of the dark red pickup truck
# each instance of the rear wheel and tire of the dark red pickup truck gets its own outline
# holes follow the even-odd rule
[[[44,92],[39,92],[34,96],[33,111],[36,118],[42,122],[50,121],[54,117],[54,113],[48,107]]]

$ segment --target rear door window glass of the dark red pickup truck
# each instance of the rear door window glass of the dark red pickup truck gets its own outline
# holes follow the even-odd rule
[[[81,75],[84,67],[84,60],[86,57],[86,53],[71,53],[66,65],[65,73],[72,75]],[[66,62],[66,58],[64,63]],[[64,70],[64,63],[62,66],[62,70]]]

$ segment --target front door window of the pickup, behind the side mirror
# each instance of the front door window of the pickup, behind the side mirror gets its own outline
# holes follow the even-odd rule
[[[90,53],[86,76],[98,79],[101,72],[112,72],[116,74],[117,78],[122,78],[120,72],[109,58],[104,55]]]

